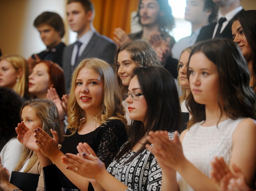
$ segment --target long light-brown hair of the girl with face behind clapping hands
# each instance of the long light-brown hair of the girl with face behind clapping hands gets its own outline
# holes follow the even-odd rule
[[[42,128],[42,130],[44,130],[52,138],[53,135],[51,134],[50,129],[53,129],[58,133],[59,143],[61,144],[64,140],[64,128],[61,129],[60,127],[60,116],[55,104],[50,100],[31,99],[23,104],[20,110],[20,115],[22,114],[23,108],[26,106],[31,107],[36,113],[37,117],[39,117],[41,121],[40,128]],[[28,159],[29,162],[24,172],[28,172],[35,165],[38,159],[36,153],[33,153],[33,150],[25,147],[21,159],[14,171],[19,171]]]

